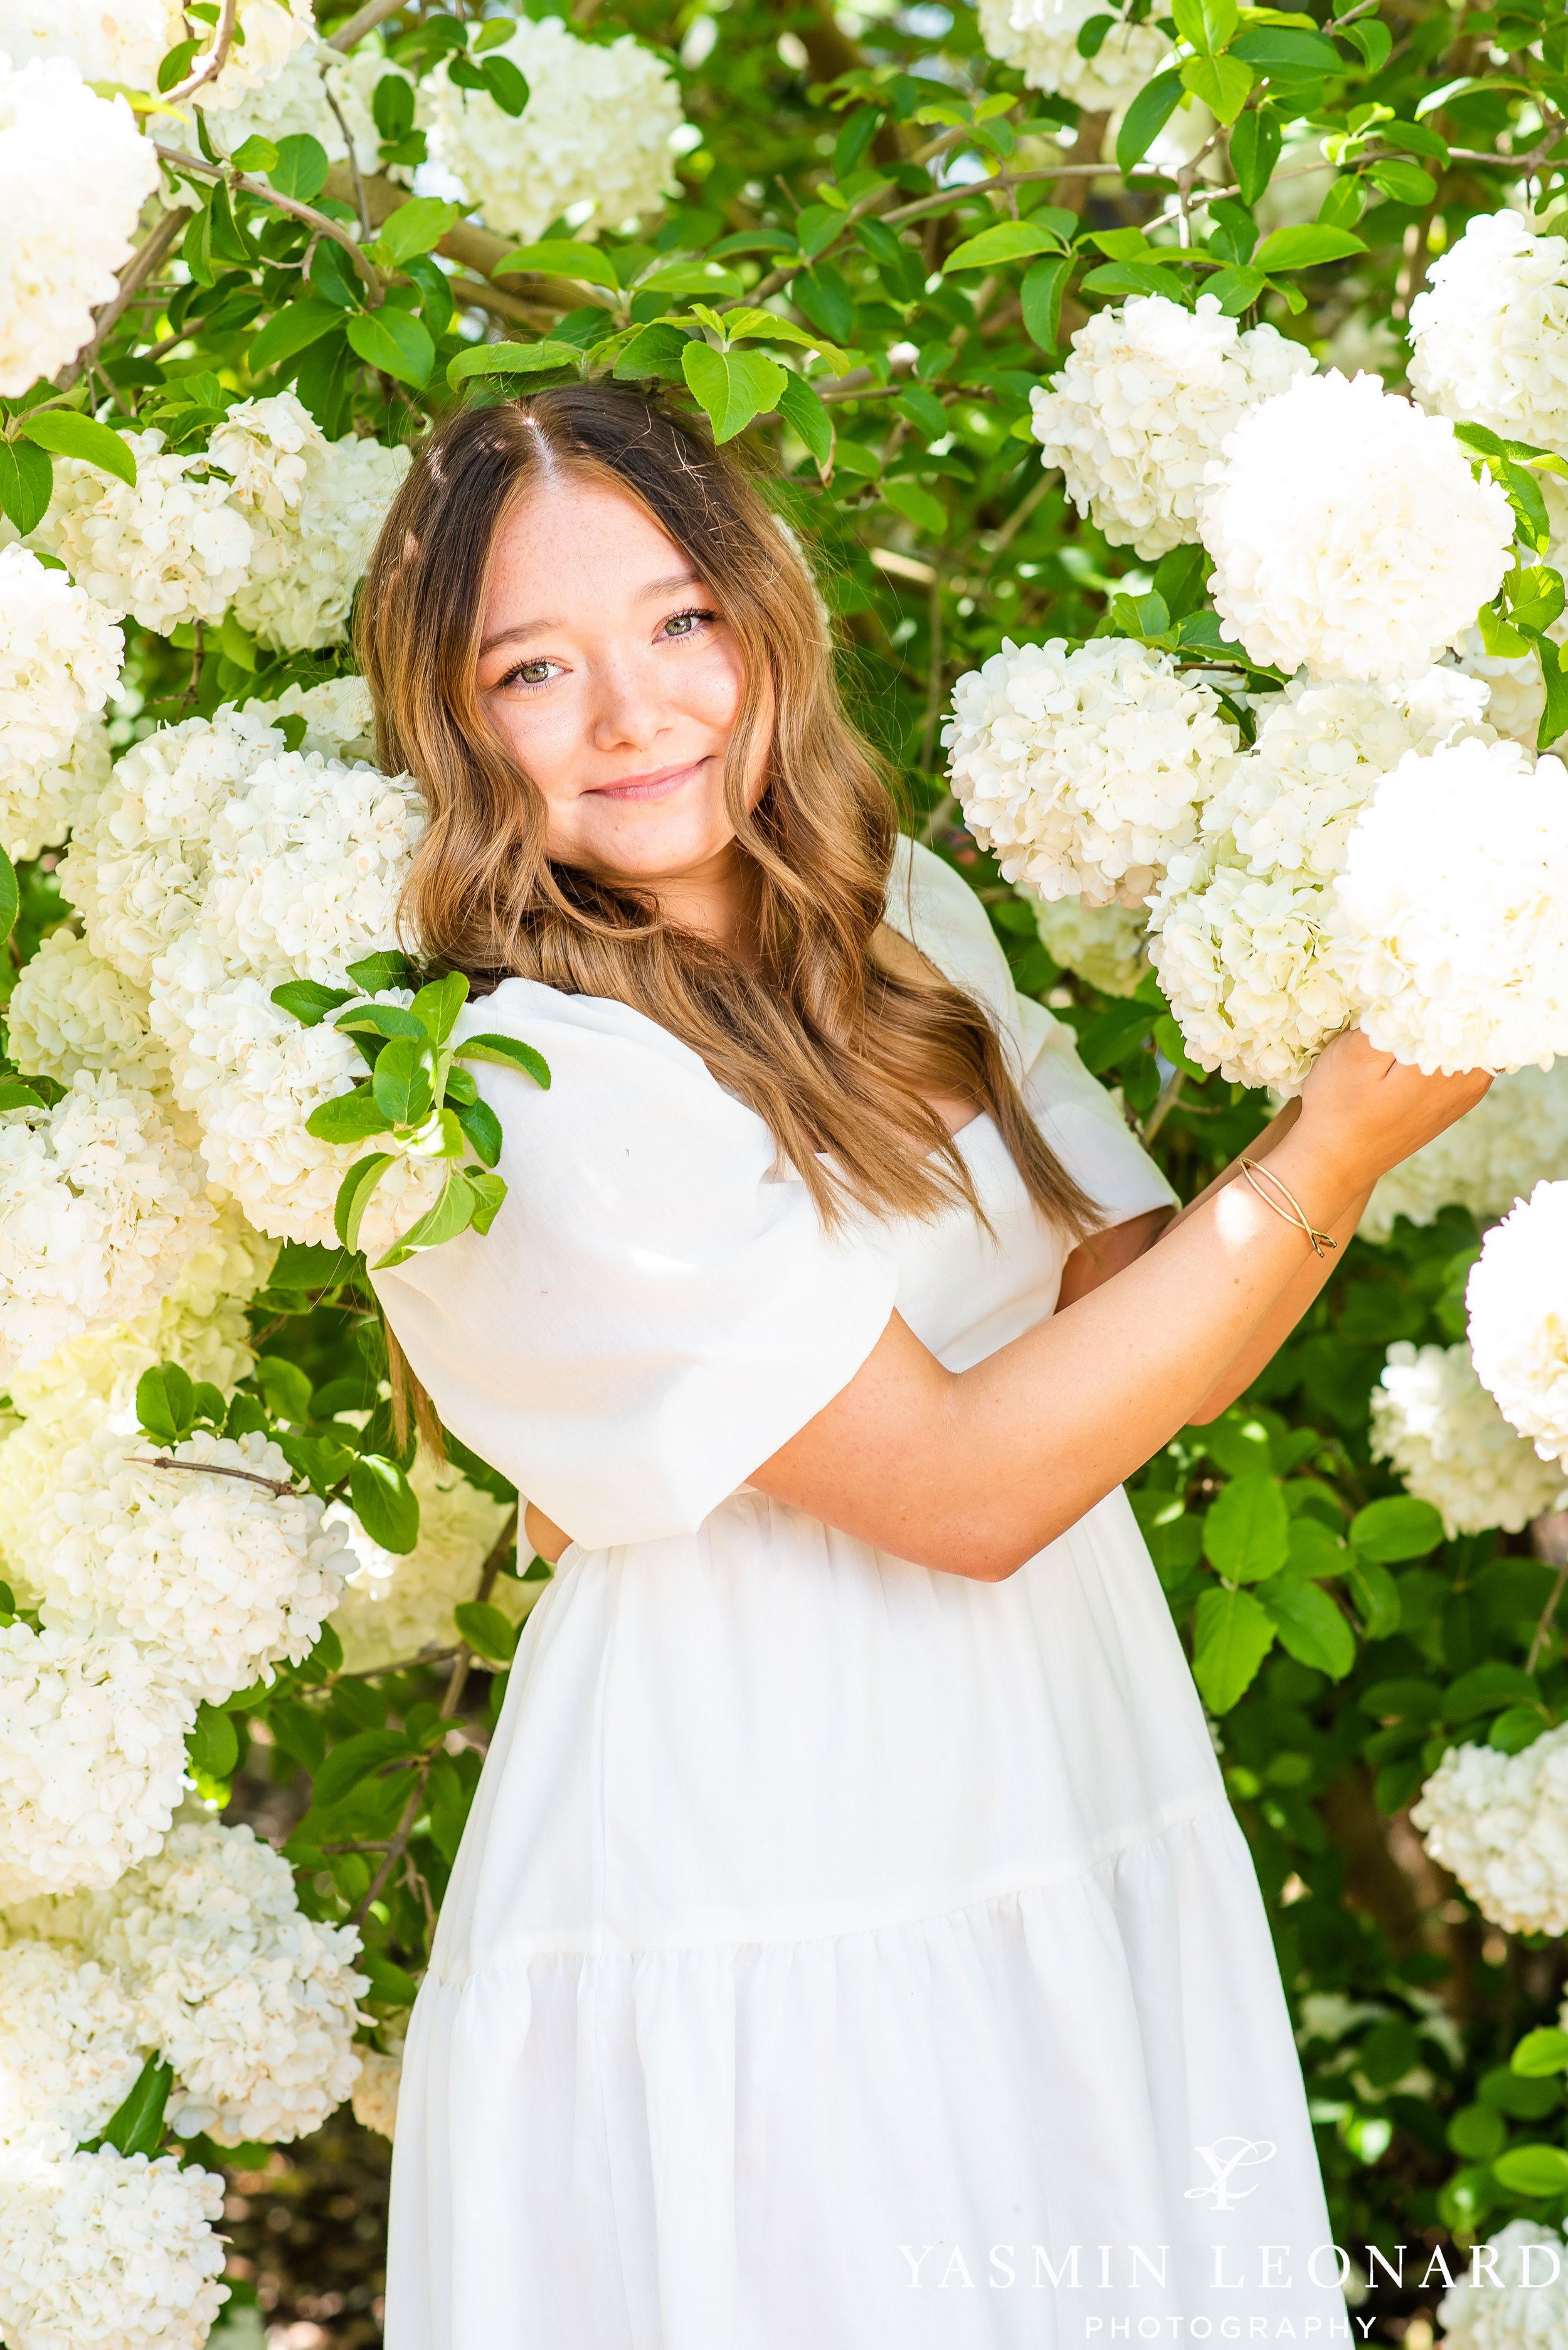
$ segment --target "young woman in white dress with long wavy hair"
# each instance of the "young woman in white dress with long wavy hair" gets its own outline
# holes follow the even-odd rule
[[[446,425],[361,642],[411,933],[552,1067],[484,1072],[491,1234],[376,1276],[556,1560],[408,2033],[387,2350],[1345,2338],[1120,1490],[1326,1257],[1261,1177],[1171,1215],[688,418]],[[1258,1154],[1343,1241],[1483,1086],[1343,1036]]]

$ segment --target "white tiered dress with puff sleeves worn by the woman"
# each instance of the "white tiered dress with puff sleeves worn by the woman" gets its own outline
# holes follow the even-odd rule
[[[979,994],[1110,1222],[1171,1198],[984,909]],[[376,1288],[577,1539],[533,1610],[413,2009],[387,2350],[1347,2338],[1270,1934],[1122,1492],[1000,1584],[746,1485],[890,1311],[951,1368],[1063,1246],[988,1119],[972,1215],[824,1236],[761,1119],[622,1003],[465,1013],[509,1198]]]

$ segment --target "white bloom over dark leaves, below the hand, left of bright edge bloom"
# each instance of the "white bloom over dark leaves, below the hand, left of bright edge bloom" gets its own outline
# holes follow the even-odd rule
[[[1392,1464],[1446,1535],[1507,1535],[1556,1509],[1563,1471],[1535,1457],[1476,1379],[1469,1347],[1397,1340],[1371,1394],[1373,1459]]]

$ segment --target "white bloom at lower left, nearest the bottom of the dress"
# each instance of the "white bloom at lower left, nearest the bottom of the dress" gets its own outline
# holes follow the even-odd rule
[[[289,1861],[251,1828],[178,1821],[101,1915],[94,1953],[176,2070],[181,2136],[300,2138],[350,2094],[359,1932],[303,1918]]]

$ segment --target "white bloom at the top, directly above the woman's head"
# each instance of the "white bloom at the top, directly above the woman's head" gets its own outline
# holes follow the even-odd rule
[[[624,33],[575,40],[559,16],[523,19],[488,56],[528,82],[528,106],[507,115],[481,89],[458,89],[446,61],[420,82],[430,157],[460,181],[502,237],[540,237],[575,204],[620,228],[657,212],[674,190],[669,141],[681,89],[653,49]]]

